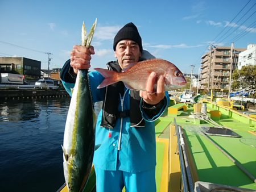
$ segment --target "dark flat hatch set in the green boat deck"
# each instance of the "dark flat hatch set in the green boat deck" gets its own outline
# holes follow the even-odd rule
[[[225,136],[225,137],[241,137],[236,132],[228,129],[228,128],[220,128],[220,127],[203,127],[204,133],[206,135],[214,135],[214,136]]]

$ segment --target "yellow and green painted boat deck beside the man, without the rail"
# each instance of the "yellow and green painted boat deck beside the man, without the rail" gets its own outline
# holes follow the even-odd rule
[[[232,129],[241,137],[205,135],[204,130],[213,125],[189,118],[188,115],[193,112],[192,106],[178,115],[166,112],[155,122],[158,192],[194,191],[184,187],[175,121],[183,132],[184,151],[188,158],[188,165],[185,166],[191,172],[193,181],[189,187],[194,188],[197,185],[195,182],[200,181],[256,191],[256,119],[229,108],[216,108],[212,103],[208,103],[207,108],[208,111],[221,111],[221,118],[215,122]],[[92,189],[95,190],[95,175],[93,181]],[[67,187],[60,191],[67,191]]]

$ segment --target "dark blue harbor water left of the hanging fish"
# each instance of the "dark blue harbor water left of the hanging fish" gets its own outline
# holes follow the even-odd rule
[[[63,135],[70,97],[0,101],[0,191],[63,185]]]

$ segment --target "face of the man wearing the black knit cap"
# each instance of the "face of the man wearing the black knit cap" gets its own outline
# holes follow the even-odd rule
[[[120,67],[125,69],[130,64],[139,61],[139,57],[141,57],[139,45],[132,40],[121,40],[115,47],[115,57]]]

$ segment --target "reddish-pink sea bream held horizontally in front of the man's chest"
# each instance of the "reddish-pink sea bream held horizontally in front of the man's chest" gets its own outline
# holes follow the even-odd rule
[[[187,81],[180,70],[171,62],[163,59],[150,59],[137,62],[124,72],[95,68],[105,77],[98,89],[122,81],[128,89],[146,90],[146,83],[151,72],[164,76],[164,89],[174,90],[183,87]],[[156,84],[155,84],[156,86]]]

